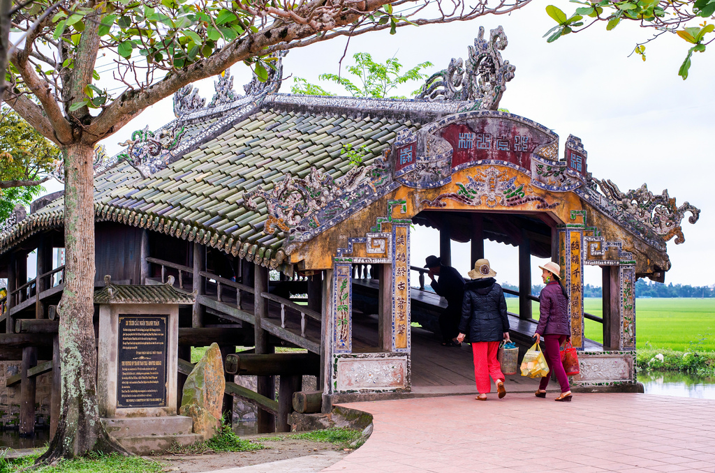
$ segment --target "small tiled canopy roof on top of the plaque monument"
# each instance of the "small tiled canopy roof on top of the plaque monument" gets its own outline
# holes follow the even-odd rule
[[[94,291],[94,304],[194,304],[194,295],[176,289],[174,277],[157,286],[112,284],[109,274],[104,277],[103,289]]]

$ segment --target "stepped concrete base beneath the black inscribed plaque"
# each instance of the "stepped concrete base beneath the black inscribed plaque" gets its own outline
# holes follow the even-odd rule
[[[181,446],[202,442],[192,433],[191,417],[121,417],[102,419],[104,428],[122,447],[137,455],[166,452],[173,444]]]

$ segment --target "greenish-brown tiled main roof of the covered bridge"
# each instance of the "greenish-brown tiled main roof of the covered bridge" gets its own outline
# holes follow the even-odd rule
[[[284,269],[285,234],[263,232],[265,201],[248,209],[245,192],[272,189],[288,174],[305,177],[312,167],[339,179],[351,166],[340,154],[343,145],[365,146],[363,163],[370,165],[399,131],[418,129],[463,106],[290,94],[243,97],[218,115],[184,116],[191,136],[180,146],[185,154],[168,169],[142,179],[120,163],[97,176],[95,215],[98,221],[162,231]],[[0,235],[0,253],[37,231],[61,226],[63,203],[57,199]]]

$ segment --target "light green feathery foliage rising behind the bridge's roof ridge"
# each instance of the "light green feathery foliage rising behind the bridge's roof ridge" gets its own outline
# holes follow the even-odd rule
[[[425,61],[403,74],[401,73],[403,64],[395,57],[385,61],[385,64],[375,62],[373,56],[368,53],[356,53],[352,56],[352,59],[355,59],[355,64],[348,66],[347,71],[357,77],[358,81],[351,81],[347,77],[337,74],[320,74],[318,79],[335,82],[335,84],[343,86],[354,97],[385,99],[389,96],[391,90],[401,84],[426,79],[427,74],[423,74],[421,71],[433,65],[431,62]],[[310,84],[300,77],[296,77],[294,80],[295,85],[291,89],[293,94],[334,95],[321,86]],[[418,91],[414,91],[413,94],[418,93]],[[406,99],[407,97],[389,96],[389,98]]]

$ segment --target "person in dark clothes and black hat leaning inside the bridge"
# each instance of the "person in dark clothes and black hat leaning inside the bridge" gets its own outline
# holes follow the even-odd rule
[[[442,264],[440,258],[427,257],[425,268],[432,279],[430,286],[437,294],[447,299],[447,308],[440,315],[440,330],[443,347],[459,347],[459,319],[462,315],[462,299],[464,297],[464,278],[450,266]],[[435,275],[438,279],[435,279]]]

